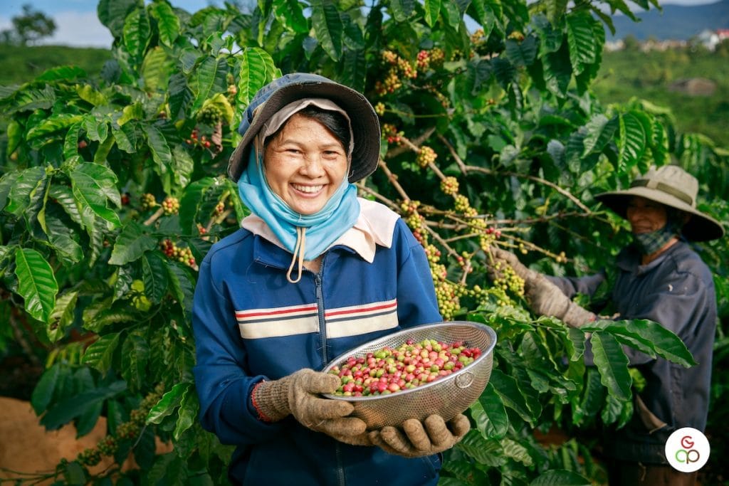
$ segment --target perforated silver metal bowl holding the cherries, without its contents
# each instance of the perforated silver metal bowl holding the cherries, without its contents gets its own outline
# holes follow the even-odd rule
[[[375,430],[384,426],[400,426],[408,418],[424,420],[434,413],[443,416],[445,420],[451,420],[470,407],[483,393],[494,363],[496,332],[484,324],[467,321],[425,324],[389,334],[348,350],[334,358],[323,371],[329,372],[332,367],[341,367],[349,356],[359,358],[385,346],[397,348],[409,339],[415,342],[425,339],[445,343],[461,341],[469,348],[480,348],[481,354],[467,367],[415,388],[377,396],[325,396],[353,404],[352,416],[364,420],[367,429]]]

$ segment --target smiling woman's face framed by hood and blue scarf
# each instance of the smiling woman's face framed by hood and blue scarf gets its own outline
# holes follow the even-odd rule
[[[266,180],[300,214],[319,211],[347,173],[344,146],[324,125],[294,114],[265,148]]]

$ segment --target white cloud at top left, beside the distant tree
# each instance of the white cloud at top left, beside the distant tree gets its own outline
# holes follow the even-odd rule
[[[55,33],[43,44],[75,47],[112,47],[109,29],[98,20],[96,12],[58,12],[53,16]]]

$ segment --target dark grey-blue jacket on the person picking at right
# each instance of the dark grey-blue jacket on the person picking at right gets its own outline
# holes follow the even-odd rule
[[[706,427],[712,376],[712,353],[717,327],[717,302],[709,267],[687,243],[679,241],[647,265],[632,247],[617,256],[617,279],[612,303],[621,319],[650,319],[677,334],[695,361],[684,368],[664,358],[652,358],[624,347],[631,366],[646,380],[636,396],[634,415],[624,428],[611,433],[605,452],[621,460],[667,463],[666,439],[682,427]],[[569,297],[593,294],[600,275],[554,278]],[[585,358],[590,364],[591,354]]]

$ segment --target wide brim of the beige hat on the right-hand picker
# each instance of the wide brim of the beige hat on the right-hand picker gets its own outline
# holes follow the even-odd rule
[[[685,203],[677,197],[666,194],[666,192],[647,187],[631,187],[624,191],[603,192],[595,196],[596,200],[606,205],[612,211],[615,211],[621,218],[626,218],[628,211],[628,202],[631,197],[639,196],[646,199],[661,203],[671,208],[677,208],[685,213],[689,213],[692,217],[682,227],[681,233],[687,240],[692,241],[709,241],[722,238],[724,236],[724,227],[716,219],[701,213],[692,205]]]

